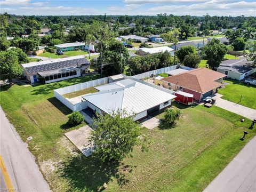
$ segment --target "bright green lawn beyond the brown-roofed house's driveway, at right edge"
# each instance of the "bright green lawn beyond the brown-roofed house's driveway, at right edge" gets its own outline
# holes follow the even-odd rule
[[[223,95],[222,99],[226,99],[239,105],[256,109],[256,87],[253,85],[246,85],[243,82],[236,80],[224,81],[229,83],[225,88],[220,89],[219,93]],[[242,95],[242,99],[241,99]],[[239,102],[241,99],[241,102]]]

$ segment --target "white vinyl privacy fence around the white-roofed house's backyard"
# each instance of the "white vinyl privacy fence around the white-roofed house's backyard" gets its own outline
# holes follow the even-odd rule
[[[165,67],[165,68],[161,68],[161,69],[156,69],[156,70],[148,71],[146,73],[134,75],[134,76],[132,76],[132,78],[141,80],[144,78],[151,77],[152,74],[158,75],[161,73],[166,73],[167,71],[170,71],[170,70],[174,70],[176,68],[177,68],[177,65]],[[180,66],[180,68],[187,69],[187,70],[193,69],[193,68],[189,68],[189,67],[185,67],[185,66]],[[89,81],[89,82],[84,82],[84,83],[79,83],[76,85],[62,87],[62,88],[53,90],[53,93],[54,93],[54,97],[57,98],[60,102],[62,102],[64,105],[66,105],[69,109],[71,109],[73,111],[80,111],[80,110],[87,108],[87,102],[80,101],[78,103],[72,103],[67,98],[63,97],[63,94],[72,93],[75,91],[80,91],[83,89],[87,89],[89,87],[94,87],[94,86],[107,84],[107,83],[108,83],[108,77],[105,77],[105,78],[95,79],[95,80]]]

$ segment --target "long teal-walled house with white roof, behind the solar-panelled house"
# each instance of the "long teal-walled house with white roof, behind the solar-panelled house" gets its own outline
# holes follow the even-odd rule
[[[88,46],[85,43],[75,42],[75,43],[63,43],[59,45],[54,45],[57,50],[60,51],[74,51],[74,50],[88,50]],[[89,46],[90,50],[94,51],[94,45]]]

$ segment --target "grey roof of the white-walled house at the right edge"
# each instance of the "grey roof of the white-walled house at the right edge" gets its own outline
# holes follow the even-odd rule
[[[245,59],[228,59],[226,61],[222,61],[220,66],[216,69],[230,70],[236,73],[245,74],[248,71],[255,69],[255,67],[250,65],[251,63],[252,61],[247,61]]]

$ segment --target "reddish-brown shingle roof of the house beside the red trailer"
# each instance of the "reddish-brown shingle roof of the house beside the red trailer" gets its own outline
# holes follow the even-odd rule
[[[226,75],[210,69],[198,68],[165,77],[162,80],[199,93],[206,93],[221,86],[221,83],[215,81],[222,77],[226,77]]]

